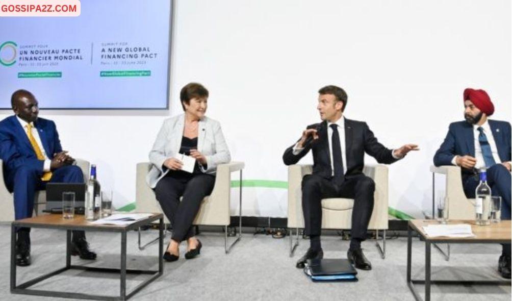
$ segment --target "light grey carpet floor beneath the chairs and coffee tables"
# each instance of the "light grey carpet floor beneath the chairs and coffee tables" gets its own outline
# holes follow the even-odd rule
[[[143,239],[156,237],[157,231],[143,232]],[[73,257],[73,264],[119,267],[120,235],[90,232],[91,248],[98,253],[95,262]],[[17,283],[56,270],[65,265],[63,231],[34,229],[32,265],[17,269]],[[406,284],[407,239],[387,241],[387,257],[380,259],[374,243],[362,244],[372,262],[373,270],[358,271],[356,283],[313,283],[295,261],[307,249],[308,241],[301,240],[295,255],[288,256],[289,238],[272,239],[266,235],[244,234],[242,241],[224,254],[224,236],[220,232],[201,232],[201,255],[194,260],[184,259],[164,263],[164,274],[138,292],[131,300],[413,300]],[[54,300],[59,298],[13,295],[9,292],[10,227],[0,225],[0,300]],[[232,238],[231,238],[232,239]],[[167,235],[165,245],[169,240]],[[339,236],[323,236],[326,258],[347,256],[348,241]],[[444,246],[443,246],[444,247]],[[413,278],[424,276],[424,244],[413,240]],[[137,248],[137,233],[130,232],[127,247],[128,268],[156,269],[158,247],[144,251]],[[452,257],[445,261],[432,250],[433,278],[444,279],[501,279],[497,274],[499,245],[452,245]],[[139,284],[146,275],[128,276],[127,290]],[[119,276],[86,271],[67,271],[46,279],[32,288],[94,294],[119,294]],[[423,286],[417,286],[423,293]],[[433,300],[510,300],[507,286],[433,286]]]

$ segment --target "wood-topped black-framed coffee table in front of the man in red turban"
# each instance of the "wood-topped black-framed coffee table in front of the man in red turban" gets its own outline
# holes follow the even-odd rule
[[[425,300],[430,300],[430,287],[432,284],[461,284],[461,285],[510,285],[510,280],[486,280],[479,281],[459,281],[459,280],[432,280],[431,279],[431,244],[450,243],[450,244],[509,244],[510,243],[510,221],[501,221],[487,226],[475,225],[474,221],[449,221],[449,224],[470,224],[474,237],[471,238],[447,238],[444,236],[430,237],[423,231],[423,226],[439,224],[435,220],[410,220],[408,223],[407,238],[407,285],[414,294],[416,300],[421,300],[416,291],[415,284],[425,285]],[[412,232],[419,234],[421,241],[425,242],[425,279],[411,279],[411,259],[412,259]]]

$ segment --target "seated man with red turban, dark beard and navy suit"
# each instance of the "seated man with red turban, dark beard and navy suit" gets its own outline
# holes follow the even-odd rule
[[[489,120],[494,105],[483,90],[464,90],[464,118],[450,124],[444,142],[434,156],[434,165],[457,165],[467,198],[475,198],[478,169],[487,169],[487,183],[493,196],[502,198],[501,218],[510,220],[511,130],[506,121]],[[510,244],[503,245],[498,271],[510,278]]]

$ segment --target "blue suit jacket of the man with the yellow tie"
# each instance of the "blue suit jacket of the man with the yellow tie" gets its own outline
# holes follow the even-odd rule
[[[53,154],[62,152],[59,134],[53,121],[37,118],[34,127],[50,159]],[[37,159],[25,129],[15,115],[0,121],[0,159],[3,161],[4,179],[9,191],[12,191],[14,175],[19,166],[31,166],[41,175],[43,173],[44,160]]]

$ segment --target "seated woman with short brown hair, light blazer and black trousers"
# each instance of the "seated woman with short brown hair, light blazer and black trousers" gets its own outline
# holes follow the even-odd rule
[[[179,245],[185,240],[186,259],[200,253],[202,245],[192,222],[201,201],[214,188],[217,165],[231,160],[220,123],[205,116],[208,90],[192,82],[181,89],[180,99],[185,114],[163,122],[150,152],[153,166],[146,177],[173,226],[163,256],[169,262],[179,259]],[[193,173],[182,170],[183,162],[178,159],[181,154],[196,159]]]

